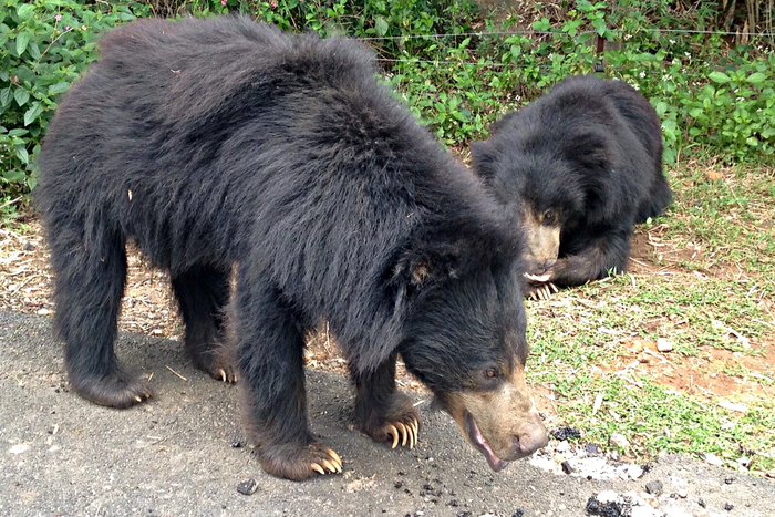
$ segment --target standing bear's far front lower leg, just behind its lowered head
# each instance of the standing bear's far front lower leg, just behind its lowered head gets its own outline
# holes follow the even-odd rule
[[[351,368],[358,390],[355,418],[361,431],[375,442],[389,442],[395,448],[401,441],[402,446],[414,448],[420,413],[395,386],[395,354],[391,355],[371,373],[358,373]]]

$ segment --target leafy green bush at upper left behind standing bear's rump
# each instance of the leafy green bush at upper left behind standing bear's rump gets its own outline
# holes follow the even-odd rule
[[[96,58],[95,35],[134,18],[106,2],[0,0],[0,205],[34,188],[30,156],[55,96]]]

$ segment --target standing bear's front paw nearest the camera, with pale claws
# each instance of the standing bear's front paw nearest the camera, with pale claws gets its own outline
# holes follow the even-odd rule
[[[340,474],[342,459],[320,442],[259,447],[261,467],[272,476],[301,482],[318,474]]]

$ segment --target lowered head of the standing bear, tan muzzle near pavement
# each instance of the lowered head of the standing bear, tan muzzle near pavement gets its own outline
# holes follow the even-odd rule
[[[405,312],[397,351],[500,471],[548,438],[525,382],[519,247],[477,239],[482,231],[468,228],[446,246],[420,246],[404,258],[396,269],[405,286],[399,293]]]

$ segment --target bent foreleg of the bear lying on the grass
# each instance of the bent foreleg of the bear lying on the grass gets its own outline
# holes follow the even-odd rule
[[[609,231],[590,232],[585,248],[558,259],[549,268],[550,281],[558,286],[581,286],[590,280],[606,278],[609,271],[622,273],[627,270],[630,255],[630,229],[616,228]]]

